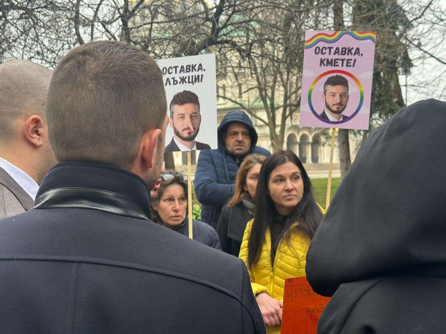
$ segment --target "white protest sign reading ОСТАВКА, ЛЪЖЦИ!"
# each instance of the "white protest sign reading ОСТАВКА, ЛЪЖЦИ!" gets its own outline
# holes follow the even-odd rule
[[[157,63],[163,73],[169,116],[165,152],[217,148],[215,55]]]

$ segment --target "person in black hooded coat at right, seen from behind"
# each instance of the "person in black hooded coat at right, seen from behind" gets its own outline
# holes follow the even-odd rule
[[[318,334],[444,333],[446,102],[372,131],[316,231],[306,275],[333,296]]]

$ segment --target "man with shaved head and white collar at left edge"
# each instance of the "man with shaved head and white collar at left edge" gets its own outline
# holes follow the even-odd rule
[[[56,163],[45,122],[51,74],[31,61],[0,64],[0,219],[32,208]]]

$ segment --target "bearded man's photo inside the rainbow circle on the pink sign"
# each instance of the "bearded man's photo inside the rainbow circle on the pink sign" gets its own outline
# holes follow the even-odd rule
[[[325,109],[322,111],[322,118],[329,122],[339,122],[348,116],[343,115],[348,102],[348,81],[340,75],[328,77],[324,83],[324,94],[322,100],[325,102]]]

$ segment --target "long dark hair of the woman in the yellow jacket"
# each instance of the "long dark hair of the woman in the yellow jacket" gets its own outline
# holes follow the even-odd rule
[[[269,196],[268,181],[271,172],[277,166],[292,162],[301,171],[302,182],[304,184],[304,193],[300,202],[296,205],[293,212],[286,217],[284,228],[277,238],[277,244],[286,236],[290,244],[291,226],[299,222],[295,227],[296,232],[306,236],[309,240],[313,238],[316,228],[322,220],[322,212],[314,200],[311,188],[310,178],[305,171],[301,161],[292,151],[277,151],[265,159],[260,169],[259,182],[256,188],[256,207],[254,211],[254,221],[251,234],[248,241],[248,266],[253,268],[260,259],[263,243],[265,242],[265,232],[273,224],[279,224],[279,214],[276,210],[273,200]],[[294,228],[293,228],[294,229]]]

